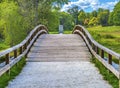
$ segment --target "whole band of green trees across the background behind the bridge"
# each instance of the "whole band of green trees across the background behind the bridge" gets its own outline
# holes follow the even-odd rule
[[[120,25],[120,2],[112,12],[99,8],[86,13],[77,6],[61,12],[69,0],[0,0],[0,40],[13,46],[21,42],[38,24],[44,24],[49,31],[57,31],[60,22],[65,30],[75,24],[84,26]]]

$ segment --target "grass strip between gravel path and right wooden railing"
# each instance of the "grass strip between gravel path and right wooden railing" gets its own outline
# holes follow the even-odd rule
[[[112,73],[107,70],[97,59],[93,58],[92,63],[99,69],[100,74],[103,75],[103,79],[108,81],[113,88],[119,88],[119,79]]]

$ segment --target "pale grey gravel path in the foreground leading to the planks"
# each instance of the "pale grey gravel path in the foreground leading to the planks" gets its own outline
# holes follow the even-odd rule
[[[27,62],[7,88],[112,88],[90,62]]]

